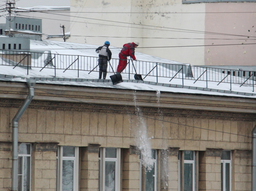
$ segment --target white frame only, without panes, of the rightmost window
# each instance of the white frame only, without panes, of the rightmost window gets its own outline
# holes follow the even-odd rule
[[[223,150],[223,151],[229,151],[230,152],[230,159],[221,159],[220,163],[223,164],[223,169],[221,171],[221,176],[222,176],[222,185],[221,185],[221,190],[225,189],[226,187],[226,164],[229,164],[229,190],[232,190],[232,152],[230,150]]]

